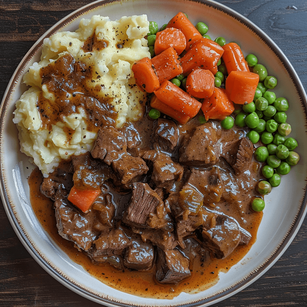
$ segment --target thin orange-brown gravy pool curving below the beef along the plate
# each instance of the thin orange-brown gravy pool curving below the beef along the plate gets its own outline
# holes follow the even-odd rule
[[[239,245],[227,258],[207,259],[196,258],[193,264],[191,277],[177,285],[159,284],[153,278],[152,271],[138,272],[116,270],[109,264],[93,264],[83,252],[74,247],[74,243],[63,239],[58,234],[52,200],[43,196],[40,185],[43,180],[38,168],[34,169],[29,177],[30,201],[37,219],[52,240],[63,250],[72,261],[80,264],[95,278],[116,290],[157,299],[172,299],[181,292],[197,293],[206,290],[219,280],[219,272],[227,272],[231,266],[238,263],[250,250],[256,241],[257,230],[262,219],[262,212],[248,212],[244,215],[245,227],[252,235],[248,245]],[[133,284],[131,284],[133,281]]]

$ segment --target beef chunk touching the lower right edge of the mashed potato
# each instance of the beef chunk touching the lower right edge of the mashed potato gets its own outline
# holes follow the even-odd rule
[[[91,151],[94,158],[103,160],[107,165],[126,152],[126,138],[112,126],[100,128],[95,146]]]

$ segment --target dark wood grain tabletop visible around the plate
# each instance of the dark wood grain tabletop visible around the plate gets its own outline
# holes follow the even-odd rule
[[[49,27],[91,1],[0,0],[0,98],[25,53]],[[157,1],[158,3],[159,1]],[[264,30],[307,88],[306,0],[219,0]],[[144,12],[146,13],[146,12]],[[72,292],[31,258],[0,206],[1,306],[101,306]],[[307,218],[276,264],[215,307],[307,306]]]

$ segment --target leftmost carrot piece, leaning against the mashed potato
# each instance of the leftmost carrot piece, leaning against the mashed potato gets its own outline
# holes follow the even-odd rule
[[[134,73],[134,78],[139,87],[148,93],[156,91],[160,82],[156,72],[152,68],[150,58],[145,57],[133,63],[131,70]]]

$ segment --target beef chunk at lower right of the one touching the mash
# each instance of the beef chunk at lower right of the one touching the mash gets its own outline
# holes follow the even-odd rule
[[[114,160],[112,167],[123,185],[138,180],[141,175],[148,171],[148,167],[142,158],[130,156],[128,153],[123,153],[119,159]]]

